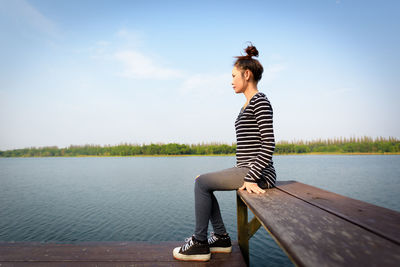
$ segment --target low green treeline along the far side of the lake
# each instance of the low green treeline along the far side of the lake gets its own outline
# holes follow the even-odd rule
[[[76,156],[146,156],[146,155],[234,155],[236,144],[120,144],[120,145],[71,145],[31,147],[0,151],[0,157],[76,157]],[[370,137],[334,138],[312,141],[281,141],[276,144],[275,155],[304,153],[400,153],[397,138]]]

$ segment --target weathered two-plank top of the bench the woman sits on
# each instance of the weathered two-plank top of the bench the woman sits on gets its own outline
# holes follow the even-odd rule
[[[298,266],[399,266],[400,246],[393,238],[385,238],[400,231],[399,213],[377,206],[368,209],[365,202],[319,190],[289,181],[260,195],[238,191],[238,202],[246,203]],[[374,212],[363,217],[352,209]],[[365,221],[369,228],[379,225],[379,211],[390,217],[387,231],[382,227],[376,232],[360,227]],[[375,217],[376,213],[379,216]]]

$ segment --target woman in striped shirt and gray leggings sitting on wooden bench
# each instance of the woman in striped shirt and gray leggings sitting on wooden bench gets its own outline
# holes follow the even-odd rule
[[[173,250],[174,258],[178,260],[208,261],[211,252],[231,252],[231,240],[213,193],[215,190],[239,189],[260,194],[265,192],[263,189],[275,185],[272,107],[265,94],[257,89],[263,73],[262,65],[253,58],[258,57],[258,51],[253,45],[245,51],[246,56],[236,57],[232,70],[233,89],[237,94],[243,93],[247,100],[235,122],[237,164],[233,168],[196,177],[196,229],[185,244]],[[209,220],[214,232],[207,239]]]

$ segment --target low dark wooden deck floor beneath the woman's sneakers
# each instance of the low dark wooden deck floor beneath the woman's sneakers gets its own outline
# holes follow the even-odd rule
[[[76,244],[0,242],[0,266],[246,266],[237,242],[232,253],[212,254],[209,262],[175,260],[183,242],[80,242]]]

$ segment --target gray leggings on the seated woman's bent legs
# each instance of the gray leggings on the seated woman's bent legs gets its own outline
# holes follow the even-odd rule
[[[195,238],[207,239],[208,222],[216,234],[226,233],[222,221],[218,201],[214,196],[215,190],[235,190],[243,185],[244,177],[249,168],[233,167],[217,172],[210,172],[196,177],[194,185],[194,200],[196,214]]]

